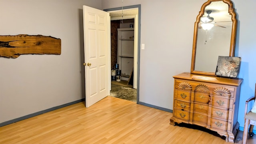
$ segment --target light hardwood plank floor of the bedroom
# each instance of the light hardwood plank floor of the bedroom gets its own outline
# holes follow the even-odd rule
[[[201,130],[172,126],[171,116],[108,96],[90,108],[80,102],[2,126],[0,144],[231,144]]]

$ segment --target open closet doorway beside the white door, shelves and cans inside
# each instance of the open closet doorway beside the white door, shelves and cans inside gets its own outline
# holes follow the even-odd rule
[[[105,10],[110,13],[111,19],[110,95],[137,103],[139,102],[139,8]]]

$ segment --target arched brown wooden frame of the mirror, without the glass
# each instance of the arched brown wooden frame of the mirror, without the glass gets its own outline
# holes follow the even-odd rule
[[[215,76],[215,72],[196,71],[194,68],[195,68],[195,61],[196,61],[196,42],[197,42],[197,36],[198,36],[198,23],[200,22],[200,18],[204,15],[206,6],[208,6],[211,2],[218,2],[218,1],[222,1],[228,4],[228,13],[231,15],[231,20],[232,20],[232,32],[231,32],[231,39],[230,39],[229,56],[234,56],[235,45],[236,45],[237,20],[236,20],[236,12],[234,11],[233,3],[231,2],[231,0],[208,0],[202,5],[201,10],[198,16],[196,17],[196,22],[194,24],[194,39],[193,39],[193,49],[192,49],[192,61],[191,61],[192,74],[205,74],[205,75]]]

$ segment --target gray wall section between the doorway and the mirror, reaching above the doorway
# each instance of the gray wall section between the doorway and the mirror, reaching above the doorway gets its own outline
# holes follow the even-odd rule
[[[141,4],[140,102],[172,109],[172,76],[190,72],[194,22],[204,2],[123,1],[123,6]],[[102,0],[102,9],[120,6],[122,0]]]

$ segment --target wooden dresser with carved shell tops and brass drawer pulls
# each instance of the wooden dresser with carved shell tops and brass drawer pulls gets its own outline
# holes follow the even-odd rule
[[[174,78],[173,116],[170,124],[202,126],[234,143],[239,123],[242,79],[182,73]]]

